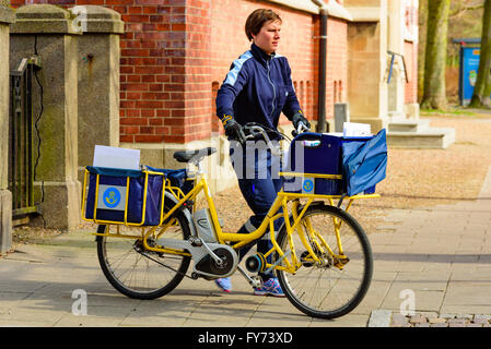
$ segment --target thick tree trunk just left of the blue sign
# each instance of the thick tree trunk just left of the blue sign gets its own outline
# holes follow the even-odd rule
[[[451,0],[431,0],[428,3],[422,109],[447,108],[445,69],[449,9]]]

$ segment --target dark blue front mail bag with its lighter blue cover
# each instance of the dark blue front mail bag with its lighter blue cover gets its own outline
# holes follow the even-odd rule
[[[385,130],[375,136],[302,133],[291,143],[283,190],[317,195],[372,194],[385,178]]]

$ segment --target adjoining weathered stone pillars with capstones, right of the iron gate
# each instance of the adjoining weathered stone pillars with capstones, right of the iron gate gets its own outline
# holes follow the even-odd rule
[[[38,125],[35,202],[43,219],[33,222],[67,230],[81,222],[79,166],[92,165],[95,144],[115,146],[119,137],[117,34],[122,33],[122,22],[108,9],[78,10],[21,7],[10,28],[10,65],[34,55],[42,62],[33,87],[33,115]]]

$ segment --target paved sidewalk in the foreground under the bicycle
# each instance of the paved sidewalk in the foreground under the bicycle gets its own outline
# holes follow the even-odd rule
[[[365,299],[334,321],[305,316],[287,299],[253,296],[238,273],[230,294],[213,282],[185,278],[161,299],[129,299],[104,278],[94,237],[75,231],[0,258],[0,326],[364,327],[417,322],[413,316],[405,323],[400,310],[426,318],[488,318],[491,168],[479,200],[395,209],[386,221],[382,228],[390,232],[370,234],[375,265]],[[87,315],[72,313],[78,289],[87,293]],[[381,314],[385,317],[376,323]]]

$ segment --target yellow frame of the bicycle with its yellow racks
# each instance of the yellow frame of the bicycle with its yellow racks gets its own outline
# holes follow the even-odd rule
[[[200,163],[196,164],[198,167],[198,171],[195,173],[194,180],[194,188],[190,190],[187,194],[184,194],[183,191],[179,188],[175,188],[171,185],[171,181],[168,179],[165,180],[165,185],[162,185],[162,200],[165,200],[164,192],[171,193],[177,203],[175,203],[174,207],[171,208],[167,213],[164,213],[164,203],[161,204],[161,219],[160,224],[156,226],[145,227],[143,226],[143,220],[139,224],[128,224],[127,222],[127,216],[125,210],[125,221],[124,222],[115,222],[115,221],[103,221],[103,220],[96,220],[95,217],[95,207],[94,207],[94,222],[97,224],[115,224],[117,226],[117,232],[112,233],[109,232],[109,229],[106,229],[106,232],[104,233],[94,233],[95,236],[102,236],[102,237],[116,237],[116,238],[127,238],[127,239],[139,239],[142,241],[142,244],[145,250],[153,251],[153,252],[161,252],[161,253],[171,253],[171,254],[177,254],[177,255],[184,255],[184,256],[191,256],[191,253],[186,252],[185,250],[189,250],[190,246],[184,245],[184,244],[174,244],[174,242],[171,242],[171,240],[167,240],[166,243],[169,245],[174,245],[174,248],[165,248],[165,246],[159,246],[159,245],[150,245],[148,240],[149,238],[154,238],[154,241],[156,241],[159,238],[161,238],[165,231],[173,225],[176,224],[176,218],[173,217],[173,215],[182,208],[188,201],[195,201],[196,197],[203,192],[208,207],[210,209],[210,216],[211,216],[211,224],[213,226],[213,229],[217,234],[218,243],[225,244],[231,243],[231,246],[235,250],[238,250],[243,248],[246,244],[249,244],[258,239],[260,239],[265,233],[267,233],[267,230],[269,229],[270,233],[270,241],[272,243],[272,248],[264,254],[265,257],[268,257],[272,253],[278,253],[278,261],[274,264],[266,264],[266,268],[269,270],[272,269],[280,269],[285,270],[289,273],[295,273],[299,267],[302,265],[302,263],[299,261],[299,257],[295,253],[295,246],[292,239],[292,236],[294,231],[297,231],[297,234],[300,237],[300,240],[303,244],[303,246],[308,252],[307,261],[319,263],[323,262],[319,260],[318,255],[326,255],[328,254],[332,258],[337,261],[342,261],[346,258],[343,254],[342,249],[342,241],[341,241],[341,234],[340,234],[340,228],[341,228],[341,220],[338,220],[337,218],[332,217],[332,225],[335,229],[336,234],[336,244],[337,244],[337,251],[339,254],[336,254],[334,252],[334,249],[329,246],[329,244],[325,241],[325,239],[313,229],[312,224],[309,219],[303,219],[304,214],[306,213],[307,208],[314,203],[315,200],[318,201],[328,201],[331,206],[334,206],[334,200],[339,200],[338,206],[340,206],[342,200],[347,198],[349,200],[349,203],[344,210],[348,212],[348,209],[351,207],[351,204],[356,198],[370,198],[370,197],[379,197],[378,194],[363,194],[363,195],[353,195],[353,196],[343,196],[343,195],[323,195],[323,194],[304,194],[304,193],[292,193],[292,192],[284,192],[280,191],[277,195],[277,198],[274,200],[273,204],[271,205],[270,209],[268,210],[268,214],[266,215],[265,219],[260,224],[260,226],[249,233],[230,233],[224,232],[222,230],[222,227],[219,221],[219,217],[217,214],[217,208],[213,202],[213,198],[210,193],[210,189],[208,186],[208,181],[206,178],[204,172],[201,169]],[[145,213],[145,196],[147,196],[147,183],[148,183],[148,176],[151,174],[162,174],[159,172],[151,172],[151,171],[144,171],[147,174],[145,182],[144,182],[144,196],[143,196],[143,210],[142,210],[142,219],[144,219],[144,213]],[[342,179],[341,174],[318,174],[318,173],[299,173],[299,172],[280,172],[279,176],[284,177],[307,177],[307,178],[322,178],[322,179],[332,179],[332,180],[340,180]],[[87,171],[85,171],[85,178],[84,178],[84,193],[83,197],[85,197],[85,185],[86,185],[86,177]],[[129,179],[127,180],[127,186]],[[97,176],[97,183],[98,184],[98,176]],[[98,185],[96,186],[98,188]],[[128,191],[127,191],[128,194]],[[97,203],[97,189],[95,192],[95,203]],[[301,207],[300,200],[306,200],[306,203]],[[84,203],[83,198],[83,203]],[[292,207],[289,209],[289,203],[292,203]],[[127,197],[127,205],[128,205],[128,197]],[[83,204],[82,204],[82,217],[83,215]],[[192,210],[195,210],[195,206],[192,206]],[[299,212],[300,210],[300,212]],[[291,213],[291,216],[290,216]],[[280,245],[277,242],[277,237],[274,234],[274,221],[278,219],[283,218],[284,220],[284,227],[287,229],[287,239],[290,250],[282,251]],[[290,220],[290,218],[293,219],[293,221]],[[191,219],[189,219],[191,220]],[[302,224],[301,224],[302,222]],[[192,225],[192,221],[189,221],[190,225]],[[131,226],[141,226],[141,233],[120,233],[119,226],[125,225],[128,227]],[[301,227],[303,226],[303,227]],[[165,240],[165,239],[164,239]],[[314,252],[314,248],[316,252]],[[211,251],[211,250],[210,250]],[[287,258],[291,254],[291,258]],[[280,266],[279,264],[281,261],[284,260],[284,266]],[[305,258],[304,258],[305,260]],[[342,268],[343,263],[337,263],[336,266],[339,268]]]

